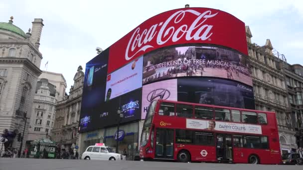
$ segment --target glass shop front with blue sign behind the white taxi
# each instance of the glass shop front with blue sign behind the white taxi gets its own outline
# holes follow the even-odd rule
[[[138,122],[120,125],[119,135],[117,135],[117,126],[106,128],[104,143],[116,152],[118,140],[119,154],[125,155],[126,160],[135,160],[136,154],[139,153],[138,130]]]

